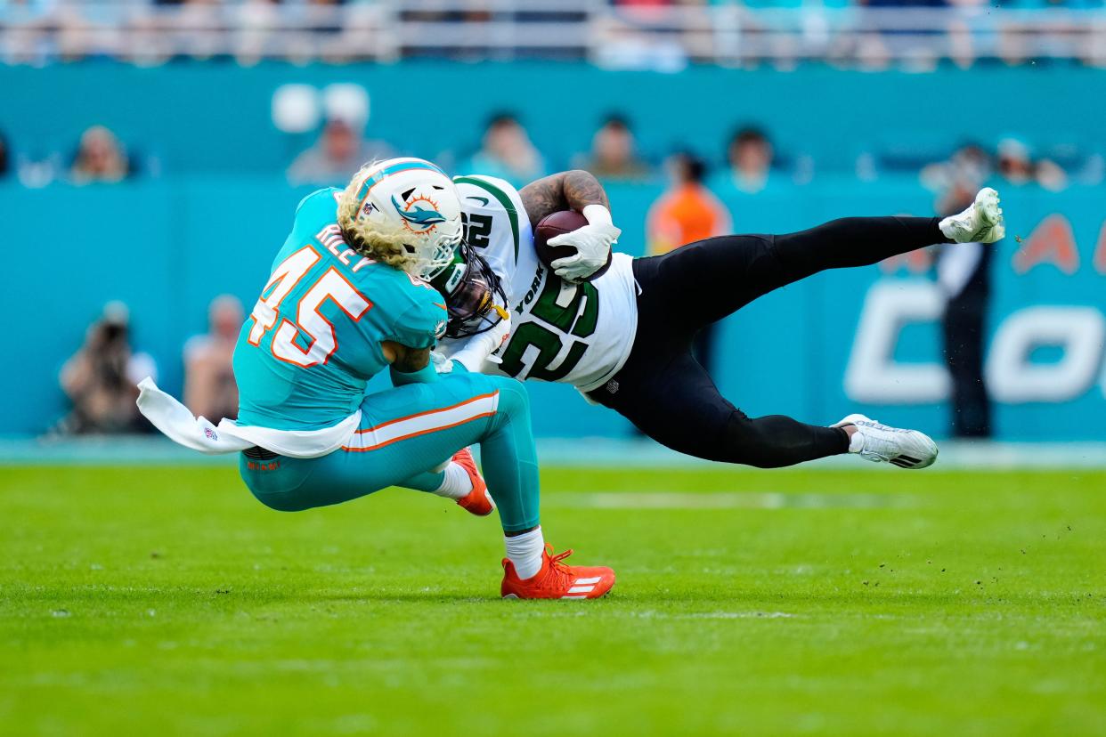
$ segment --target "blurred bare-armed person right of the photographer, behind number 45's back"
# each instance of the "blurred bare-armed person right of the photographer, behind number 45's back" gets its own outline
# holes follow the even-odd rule
[[[231,358],[242,329],[242,303],[223,294],[208,306],[208,331],[185,344],[185,404],[206,418],[238,417]]]

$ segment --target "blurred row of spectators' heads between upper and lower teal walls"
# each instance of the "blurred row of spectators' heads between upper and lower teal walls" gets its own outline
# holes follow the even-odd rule
[[[286,168],[292,185],[341,185],[353,171],[373,159],[392,156],[420,156],[435,159],[446,170],[479,172],[501,177],[522,186],[552,171],[582,168],[609,182],[660,183],[665,180],[668,152],[639,150],[630,119],[611,113],[597,126],[589,145],[576,154],[553,160],[542,152],[513,113],[494,114],[483,134],[468,152],[406,151],[380,138],[371,138],[364,122],[332,117],[321,125],[315,143],[300,152]],[[1034,151],[1016,136],[1006,136],[988,148],[979,144],[972,150],[978,166],[1015,186],[1037,185],[1056,191],[1070,182],[1098,185],[1106,177],[1106,161],[1096,150],[1055,146],[1046,152]],[[884,175],[921,172],[921,182],[940,186],[947,171],[931,165],[918,151],[862,151],[852,171],[826,170],[802,151],[778,152],[770,135],[755,125],[739,125],[722,141],[720,155],[710,150],[691,151],[701,160],[703,180],[717,193],[755,194],[775,185],[802,186],[822,173],[852,176],[860,181],[876,181]],[[50,152],[38,158],[24,154],[19,141],[0,131],[0,181],[15,177],[27,187],[42,187],[53,181],[74,185],[115,183],[139,173],[158,176],[160,165],[147,160],[139,166],[127,147],[109,129],[94,125],[77,138],[67,155]]]

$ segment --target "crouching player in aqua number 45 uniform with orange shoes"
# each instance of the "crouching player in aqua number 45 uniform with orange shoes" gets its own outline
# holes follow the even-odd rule
[[[419,275],[453,259],[462,231],[456,186],[421,159],[369,165],[345,191],[307,196],[239,336],[237,421],[194,418],[149,379],[138,406],[177,442],[240,452],[242,480],[274,509],[393,485],[457,499],[477,515],[490,514],[494,499],[507,545],[503,597],[601,597],[614,571],[568,566],[567,552],[551,555],[542,537],[522,385],[467,370],[499,347],[510,319],[469,341],[448,371],[430,362],[447,309]],[[394,388],[366,396],[385,369]],[[476,443],[487,485],[467,450]]]

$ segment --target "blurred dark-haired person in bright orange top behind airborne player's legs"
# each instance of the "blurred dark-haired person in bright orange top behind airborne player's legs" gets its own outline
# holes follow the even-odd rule
[[[649,255],[660,255],[688,243],[732,232],[726,206],[703,186],[706,166],[691,154],[681,152],[666,162],[669,187],[649,208],[646,240]],[[692,352],[709,372],[713,362],[717,325],[696,336]]]

